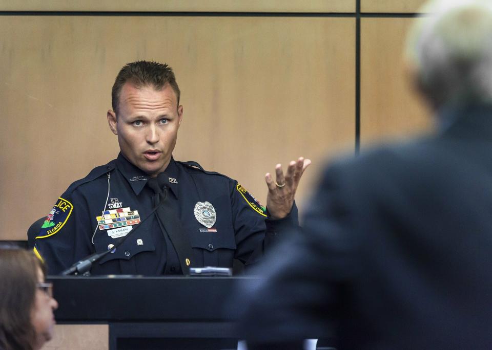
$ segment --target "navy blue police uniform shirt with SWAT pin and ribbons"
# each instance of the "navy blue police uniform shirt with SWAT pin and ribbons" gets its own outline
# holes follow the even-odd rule
[[[232,180],[198,164],[171,159],[168,195],[193,248],[192,267],[232,267],[233,259],[254,264],[278,231],[298,225],[297,208],[282,220],[269,220],[260,204]],[[35,252],[57,274],[94,252],[104,252],[136,229],[154,209],[149,177],[121,154],[94,168],[56,201],[36,237]],[[108,195],[109,189],[109,195]],[[107,205],[105,208],[105,203]],[[199,223],[195,205],[209,202],[216,222]],[[104,212],[103,212],[104,210]],[[92,274],[181,274],[177,253],[156,213],[117,249],[93,264]]]

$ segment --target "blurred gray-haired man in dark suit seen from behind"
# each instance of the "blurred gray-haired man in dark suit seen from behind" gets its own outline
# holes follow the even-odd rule
[[[492,2],[427,4],[408,38],[437,133],[338,161],[247,293],[252,348],[492,348]],[[300,348],[300,347],[299,347]]]

